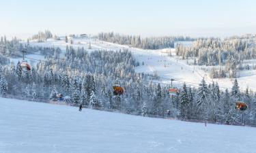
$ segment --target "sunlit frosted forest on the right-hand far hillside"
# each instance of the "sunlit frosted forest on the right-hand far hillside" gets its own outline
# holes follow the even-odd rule
[[[243,62],[256,58],[255,38],[256,35],[243,35],[226,39],[197,39],[191,47],[178,44],[176,54],[182,56],[182,59],[194,58],[194,65],[223,66],[225,73],[229,73],[230,78],[236,78],[238,69],[254,68],[243,65]]]

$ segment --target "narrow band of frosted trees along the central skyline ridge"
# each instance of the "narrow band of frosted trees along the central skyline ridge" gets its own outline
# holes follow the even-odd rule
[[[157,50],[174,48],[175,41],[192,41],[190,37],[145,37],[137,35],[119,35],[119,33],[99,33],[98,39],[115,44],[128,45],[135,48]]]

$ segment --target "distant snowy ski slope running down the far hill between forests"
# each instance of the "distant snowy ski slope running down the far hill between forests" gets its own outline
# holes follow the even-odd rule
[[[186,60],[181,60],[180,57],[175,56],[175,48],[168,48],[162,50],[143,50],[139,48],[130,48],[129,46],[113,44],[106,41],[100,41],[98,39],[73,39],[74,44],[72,46],[74,48],[85,48],[86,50],[120,50],[126,48],[133,52],[134,57],[137,61],[139,61],[140,66],[136,67],[135,70],[137,72],[144,73],[158,73],[162,79],[159,82],[163,84],[171,84],[170,79],[173,78],[175,81],[173,84],[177,86],[182,86],[184,82],[188,84],[188,86],[197,87],[203,78],[205,81],[210,84],[212,81],[218,82],[221,90],[225,90],[228,88],[231,89],[233,80],[229,78],[225,79],[214,79],[212,80],[209,77],[209,73],[206,73],[199,66],[187,65]],[[88,49],[89,43],[91,43],[91,49]],[[184,42],[185,45],[190,45],[191,42]],[[61,40],[53,40],[48,39],[46,42],[37,43],[36,41],[30,42],[31,46],[47,46],[47,47],[59,47],[61,50],[66,50],[66,46],[70,46],[70,44],[66,44],[64,41],[64,37],[61,37]],[[171,52],[173,56],[168,56],[168,53]],[[144,62],[144,65],[142,65]],[[204,67],[205,68],[205,67]],[[256,72],[246,71],[242,72],[240,78],[238,78],[238,83],[240,85],[241,90],[245,90],[247,87],[256,91]]]

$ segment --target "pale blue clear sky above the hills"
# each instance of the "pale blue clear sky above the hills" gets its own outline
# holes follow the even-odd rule
[[[0,0],[0,35],[256,33],[255,0]]]

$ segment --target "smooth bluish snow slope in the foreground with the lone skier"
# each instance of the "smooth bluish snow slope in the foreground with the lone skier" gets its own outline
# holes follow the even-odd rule
[[[255,153],[256,128],[0,98],[1,153]]]

